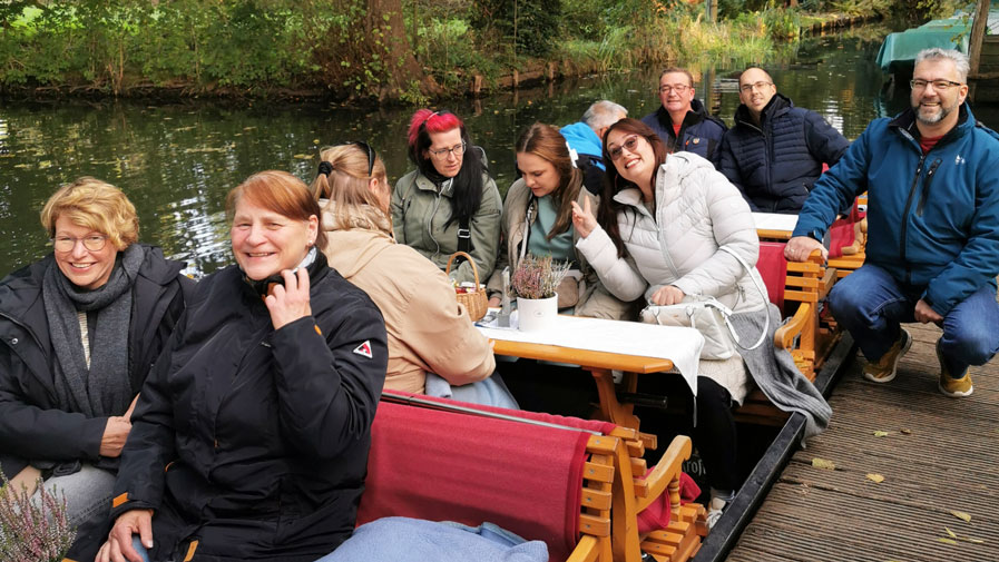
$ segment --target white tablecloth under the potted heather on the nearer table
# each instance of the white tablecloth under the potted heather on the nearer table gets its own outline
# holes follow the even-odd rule
[[[517,313],[513,314],[516,317]],[[511,324],[517,325],[516,318]],[[669,359],[691,386],[691,391],[697,394],[697,365],[701,348],[704,347],[704,336],[694,328],[576,316],[558,316],[556,327],[543,332],[520,332],[516,328],[481,325],[478,328],[491,339]]]

